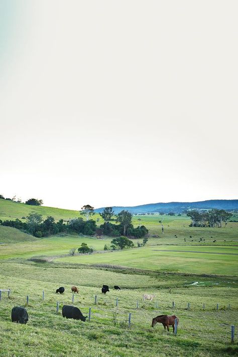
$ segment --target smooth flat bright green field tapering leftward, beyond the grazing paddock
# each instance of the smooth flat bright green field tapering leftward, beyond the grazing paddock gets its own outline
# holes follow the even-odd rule
[[[111,264],[179,273],[238,275],[238,249],[235,247],[154,246],[107,254],[65,257],[58,261]]]

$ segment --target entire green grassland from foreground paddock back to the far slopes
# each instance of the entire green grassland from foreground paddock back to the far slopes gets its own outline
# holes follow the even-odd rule
[[[32,210],[44,217],[54,216],[56,220],[79,216],[78,211],[0,200],[2,219],[22,218]],[[94,216],[97,218],[98,214]],[[164,234],[160,219],[163,219]],[[100,223],[101,218],[97,224]],[[144,224],[149,229],[146,247],[75,257],[67,256],[71,248],[85,242],[94,251],[101,251],[111,237],[64,235],[37,239],[18,229],[0,226],[0,288],[12,290],[10,298],[3,293],[0,301],[0,355],[217,357],[238,354],[236,335],[235,343],[230,343],[230,325],[237,329],[238,322],[235,276],[238,274],[238,223],[229,222],[225,228],[192,228],[189,223],[186,216],[133,216],[135,226]],[[141,240],[134,240],[135,245],[137,242]],[[49,262],[39,263],[29,261],[32,257],[50,258]],[[122,290],[116,292],[110,288],[103,295],[102,284],[120,285]],[[89,307],[92,309],[90,322],[67,320],[61,315],[62,305],[72,303],[72,285],[79,287],[75,306],[84,315]],[[66,288],[62,296],[55,294],[59,286]],[[143,301],[144,293],[155,294],[155,301]],[[26,295],[29,295],[28,324],[12,323],[11,309],[15,305],[25,306]],[[57,301],[59,314],[56,314]],[[131,327],[128,327],[129,313],[132,313]],[[171,331],[164,332],[162,325],[151,327],[152,318],[159,314],[179,317],[177,336]]]

